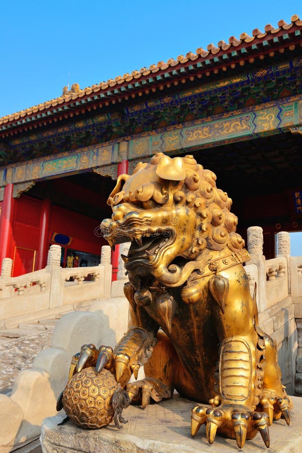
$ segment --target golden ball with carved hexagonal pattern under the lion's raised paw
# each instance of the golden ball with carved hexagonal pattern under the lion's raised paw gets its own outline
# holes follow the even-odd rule
[[[112,396],[120,388],[107,369],[97,374],[94,367],[84,368],[71,378],[63,392],[66,415],[82,428],[102,428],[113,419]]]

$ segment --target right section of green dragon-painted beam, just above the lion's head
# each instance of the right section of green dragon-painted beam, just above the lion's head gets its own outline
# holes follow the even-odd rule
[[[183,149],[215,146],[258,138],[274,133],[301,122],[302,96],[299,100],[284,104],[271,103],[266,108],[222,115],[214,121],[200,121],[192,126],[173,128],[160,134],[149,135],[129,141],[129,159],[151,156],[158,152],[169,153]]]

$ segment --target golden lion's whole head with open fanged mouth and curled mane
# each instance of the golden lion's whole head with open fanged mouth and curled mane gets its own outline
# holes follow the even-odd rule
[[[139,163],[132,176],[119,176],[108,199],[112,218],[102,222],[102,230],[111,246],[131,241],[124,259],[134,286],[148,276],[178,286],[209,250],[244,247],[232,200],[215,181],[192,156],[162,153]]]

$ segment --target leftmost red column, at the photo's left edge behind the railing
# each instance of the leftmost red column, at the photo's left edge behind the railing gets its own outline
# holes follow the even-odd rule
[[[16,200],[13,198],[13,184],[8,184],[4,191],[4,200],[0,221],[0,269],[4,258],[11,257],[13,239],[13,221]]]

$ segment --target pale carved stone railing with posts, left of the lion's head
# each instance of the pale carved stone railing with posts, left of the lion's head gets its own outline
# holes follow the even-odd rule
[[[62,269],[61,247],[52,245],[45,269],[18,277],[10,276],[11,260],[6,259],[5,272],[0,276],[1,325],[15,327],[22,320],[50,315],[50,311],[63,313],[85,301],[110,297],[112,266],[107,249],[105,246],[98,266]]]

